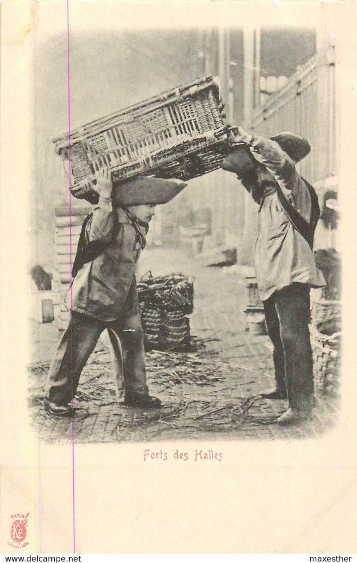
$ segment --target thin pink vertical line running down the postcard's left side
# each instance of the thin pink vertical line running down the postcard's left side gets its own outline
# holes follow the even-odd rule
[[[71,159],[70,159],[70,74],[69,74],[69,0],[67,0],[67,85],[68,85],[68,187],[71,184]],[[69,272],[70,272],[70,308],[73,305],[72,296],[72,207],[69,190]],[[72,409],[73,409],[72,399]],[[76,553],[76,504],[74,489],[74,418],[72,418],[72,498],[73,498],[73,553]]]

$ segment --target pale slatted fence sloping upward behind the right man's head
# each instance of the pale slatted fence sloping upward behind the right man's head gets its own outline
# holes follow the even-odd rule
[[[299,171],[314,182],[338,174],[334,59],[333,47],[316,53],[265,105],[255,109],[250,124],[261,135],[293,131],[306,137],[311,154]]]

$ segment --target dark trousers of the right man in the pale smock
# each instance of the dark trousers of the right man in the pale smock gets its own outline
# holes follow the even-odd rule
[[[274,345],[276,388],[293,409],[310,411],[314,401],[308,323],[310,287],[294,283],[263,301],[267,331]]]

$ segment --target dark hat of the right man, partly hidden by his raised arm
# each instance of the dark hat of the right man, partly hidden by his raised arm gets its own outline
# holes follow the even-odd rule
[[[311,147],[307,139],[296,133],[281,131],[270,138],[272,141],[276,141],[294,162],[299,162],[310,153]],[[222,168],[243,177],[257,164],[258,161],[250,153],[248,145],[238,143],[232,147],[230,154],[224,158]]]

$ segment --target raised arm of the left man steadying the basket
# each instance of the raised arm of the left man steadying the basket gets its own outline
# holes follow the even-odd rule
[[[92,217],[86,227],[87,242],[92,240],[103,240],[110,242],[113,235],[114,209],[111,199],[113,182],[111,170],[107,167],[101,168],[95,173],[96,185],[93,190],[99,194],[99,201],[94,206]]]

